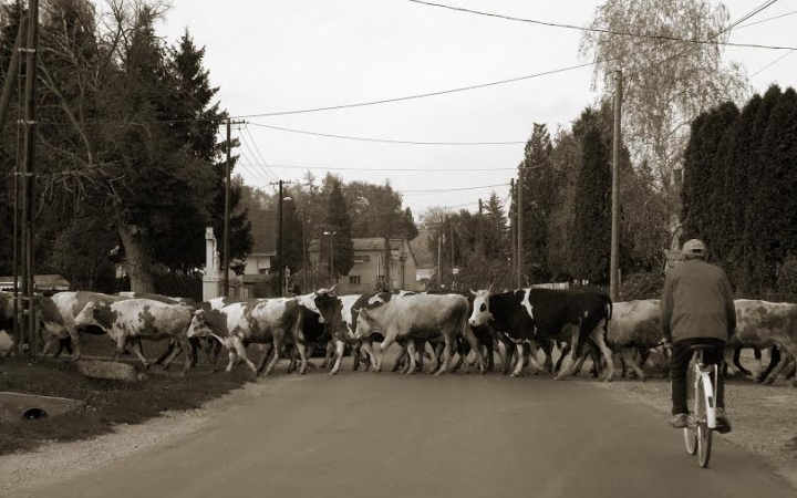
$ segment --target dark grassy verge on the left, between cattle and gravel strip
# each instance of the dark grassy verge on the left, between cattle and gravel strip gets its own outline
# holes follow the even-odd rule
[[[154,367],[148,380],[126,384],[84,377],[76,365],[65,362],[29,366],[6,361],[0,364],[0,391],[70,397],[85,405],[39,421],[0,422],[0,455],[30,450],[52,440],[86,439],[113,430],[115,424],[141,423],[166,411],[198,408],[245,382],[244,376],[211,374],[201,361],[186,378],[176,371],[163,373]]]

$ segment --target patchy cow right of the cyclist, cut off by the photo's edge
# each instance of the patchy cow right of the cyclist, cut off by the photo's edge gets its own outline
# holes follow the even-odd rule
[[[797,357],[797,304],[737,299],[736,333],[731,336],[728,347],[777,346],[782,352]],[[772,383],[788,362],[772,371],[766,383]],[[797,386],[797,380],[794,382]]]

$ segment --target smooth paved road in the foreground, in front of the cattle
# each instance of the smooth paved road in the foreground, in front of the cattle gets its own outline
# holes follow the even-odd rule
[[[11,497],[794,498],[721,440],[701,469],[665,414],[591,381],[342,372],[266,394],[68,483]]]

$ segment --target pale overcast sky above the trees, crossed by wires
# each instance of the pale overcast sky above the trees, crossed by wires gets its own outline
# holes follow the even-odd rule
[[[541,21],[586,25],[600,0],[439,0],[457,7]],[[727,0],[735,20],[762,0]],[[185,28],[206,46],[205,65],[220,86],[221,105],[231,115],[324,107],[392,98],[506,80],[577,65],[581,33],[576,30],[510,22],[405,0],[173,0],[158,30],[176,40]],[[752,21],[797,10],[780,0]],[[735,31],[732,42],[796,45],[797,14]],[[753,74],[786,52],[725,49],[725,59]],[[751,79],[755,91],[770,83],[794,85],[791,53]],[[791,79],[788,77],[791,76]],[[515,145],[405,145],[353,142],[263,128],[411,142],[522,142],[532,124],[551,132],[569,126],[591,104],[591,68],[487,89],[370,107],[287,116],[248,117],[236,173],[256,187],[275,178],[301,180],[306,168],[317,177],[328,168],[344,180],[383,184],[404,193],[416,215],[429,206],[475,209],[490,188],[508,184],[522,158]],[[273,165],[270,170],[263,163]],[[246,165],[246,166],[244,166]],[[293,168],[283,167],[293,166]],[[392,169],[392,170],[389,170]],[[401,170],[404,169],[404,170]],[[407,170],[415,169],[415,170]],[[442,172],[442,169],[449,169]],[[460,169],[452,172],[451,169]],[[479,170],[482,169],[482,170]],[[487,170],[486,170],[487,169]],[[501,197],[508,186],[494,188]]]

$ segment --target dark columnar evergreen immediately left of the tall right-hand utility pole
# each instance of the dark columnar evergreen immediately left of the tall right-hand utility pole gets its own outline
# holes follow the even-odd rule
[[[578,278],[593,283],[609,280],[611,184],[609,151],[600,131],[589,129],[583,139],[577,184],[573,267]]]

